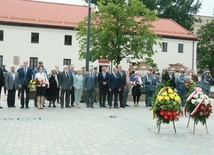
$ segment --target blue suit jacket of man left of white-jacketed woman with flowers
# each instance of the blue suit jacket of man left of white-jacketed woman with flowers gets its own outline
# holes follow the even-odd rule
[[[32,80],[33,71],[29,67],[27,68],[26,74],[25,74],[24,68],[18,69],[18,73],[19,73],[19,84],[20,85],[23,85],[23,84],[28,85],[30,83],[30,80]]]

